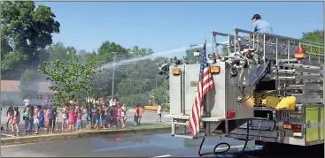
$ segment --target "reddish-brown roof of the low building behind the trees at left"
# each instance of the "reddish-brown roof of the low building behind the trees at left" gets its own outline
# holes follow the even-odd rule
[[[1,92],[19,92],[19,80],[1,80]],[[50,82],[37,82],[38,92],[53,93]]]

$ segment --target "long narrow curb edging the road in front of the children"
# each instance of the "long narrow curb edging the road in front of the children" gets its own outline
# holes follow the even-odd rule
[[[5,138],[1,139],[1,146],[38,143],[45,141],[63,140],[63,139],[79,139],[89,138],[96,136],[112,135],[112,134],[152,134],[152,133],[163,133],[171,132],[171,127],[148,127],[147,129],[123,129],[123,130],[112,130],[112,131],[93,131],[93,132],[75,132],[75,133],[58,133],[53,135],[38,135],[38,136],[27,136],[27,137],[16,137],[16,138]]]

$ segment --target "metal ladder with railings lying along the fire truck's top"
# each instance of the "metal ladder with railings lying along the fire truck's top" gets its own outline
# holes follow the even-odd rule
[[[244,34],[240,36],[239,34]],[[217,42],[217,36],[227,36],[228,42]],[[275,60],[276,64],[279,60],[293,60],[295,52],[298,48],[310,48],[317,51],[306,51],[305,62],[324,63],[324,44],[294,39],[276,34],[267,33],[253,33],[251,31],[234,28],[234,34],[212,33],[213,52],[217,50],[218,46],[224,46],[228,49],[228,55],[233,52],[243,51],[244,49],[255,49],[254,53],[258,53],[264,59]]]

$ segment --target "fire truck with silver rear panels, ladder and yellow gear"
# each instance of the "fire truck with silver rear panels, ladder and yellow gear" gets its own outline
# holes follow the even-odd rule
[[[217,36],[228,42],[218,42]],[[212,41],[208,58],[214,87],[205,95],[195,137],[188,126],[200,64],[176,58],[159,64],[159,74],[169,78],[174,137],[204,142],[224,136],[257,145],[324,143],[324,44],[238,28],[234,34],[213,31]],[[220,45],[228,56],[219,56]]]

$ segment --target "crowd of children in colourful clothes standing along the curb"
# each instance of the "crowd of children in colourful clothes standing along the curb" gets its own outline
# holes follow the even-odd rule
[[[124,127],[127,121],[127,106],[126,104],[87,104],[86,106],[66,104],[61,109],[62,113],[62,131],[66,128],[68,132],[74,132],[82,128],[82,117],[86,114],[88,124],[91,124],[94,129],[121,128]],[[86,112],[83,112],[86,109]],[[19,133],[20,115],[25,123],[25,131],[32,132],[35,126],[35,133],[38,133],[41,128],[45,128],[51,133],[54,130],[58,131],[58,110],[54,106],[37,106],[36,108],[27,105],[23,110],[19,111],[18,107],[9,107],[7,110],[6,129],[12,132]],[[35,125],[34,125],[35,124]]]

